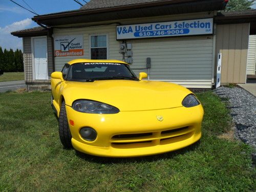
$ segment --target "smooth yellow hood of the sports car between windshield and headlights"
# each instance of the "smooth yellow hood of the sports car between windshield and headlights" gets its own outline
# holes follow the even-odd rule
[[[90,99],[111,104],[120,111],[177,108],[190,93],[174,83],[147,80],[65,81],[63,89],[67,105],[72,106],[77,99]]]

